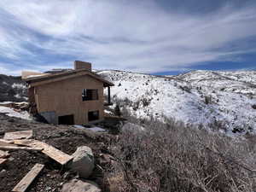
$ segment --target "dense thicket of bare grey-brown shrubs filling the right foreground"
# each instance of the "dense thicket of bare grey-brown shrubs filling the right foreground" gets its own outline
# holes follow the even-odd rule
[[[255,148],[169,121],[122,131],[113,147],[124,174],[119,191],[255,191]]]

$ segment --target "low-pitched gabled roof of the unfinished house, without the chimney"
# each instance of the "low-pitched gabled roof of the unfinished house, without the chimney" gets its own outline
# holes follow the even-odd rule
[[[42,75],[32,76],[24,79],[26,83],[31,84],[32,86],[37,86],[39,84],[48,84],[55,81],[59,81],[62,79],[69,79],[78,77],[81,75],[89,75],[91,78],[102,81],[104,87],[113,86],[114,84],[106,79],[102,79],[102,77],[96,73],[90,72],[87,69],[77,69],[70,70],[61,73],[42,73]]]

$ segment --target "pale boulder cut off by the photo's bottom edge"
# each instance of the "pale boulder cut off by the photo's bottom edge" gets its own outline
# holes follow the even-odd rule
[[[61,192],[101,192],[96,183],[73,179],[62,186]]]

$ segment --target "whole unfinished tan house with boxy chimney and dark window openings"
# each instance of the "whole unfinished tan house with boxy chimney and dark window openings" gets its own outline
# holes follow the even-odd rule
[[[51,124],[84,125],[104,119],[104,104],[110,104],[108,80],[91,72],[91,64],[74,61],[74,69],[59,73],[23,72],[29,84],[33,110]],[[103,89],[108,88],[108,102]]]

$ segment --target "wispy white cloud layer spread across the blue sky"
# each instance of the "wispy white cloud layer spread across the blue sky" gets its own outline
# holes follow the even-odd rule
[[[1,0],[1,9],[11,16],[13,30],[19,25],[50,37],[43,41],[22,30],[9,34],[0,22],[1,55],[23,61],[22,55],[37,60],[25,41],[57,55],[89,57],[94,67],[153,73],[230,60],[252,51],[242,45],[229,49],[230,43],[256,36],[255,7],[224,6],[209,15],[189,15],[166,12],[153,0]]]

